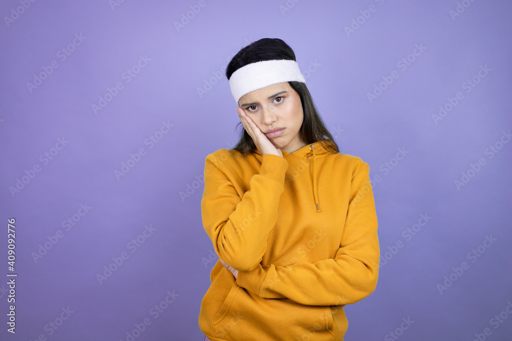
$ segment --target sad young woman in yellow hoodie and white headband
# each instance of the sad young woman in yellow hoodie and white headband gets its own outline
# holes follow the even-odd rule
[[[339,153],[283,40],[243,48],[226,76],[244,130],[205,160],[201,213],[219,262],[204,339],[343,340],[343,306],[377,284],[369,166]]]

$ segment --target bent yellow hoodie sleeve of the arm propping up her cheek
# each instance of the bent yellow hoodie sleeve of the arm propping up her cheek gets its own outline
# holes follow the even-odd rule
[[[241,198],[216,156],[206,157],[203,226],[219,258],[233,268],[249,271],[261,262],[278,217],[287,168],[284,157],[263,155],[260,173],[252,175],[250,189]]]

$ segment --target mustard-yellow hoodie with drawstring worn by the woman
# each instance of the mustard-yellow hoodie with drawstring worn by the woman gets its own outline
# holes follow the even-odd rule
[[[375,290],[368,164],[318,142],[282,153],[206,157],[204,230],[239,270],[237,279],[219,261],[211,270],[199,313],[211,341],[343,340],[343,306]]]

